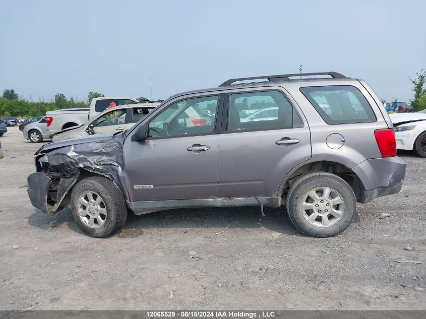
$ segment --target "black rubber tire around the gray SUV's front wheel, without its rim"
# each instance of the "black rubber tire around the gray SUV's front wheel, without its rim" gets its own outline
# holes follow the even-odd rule
[[[99,228],[88,226],[79,216],[80,197],[94,192],[101,197],[106,209],[105,222]],[[106,177],[94,176],[79,181],[71,193],[71,210],[77,225],[92,237],[108,237],[123,227],[127,219],[127,207],[123,193]]]

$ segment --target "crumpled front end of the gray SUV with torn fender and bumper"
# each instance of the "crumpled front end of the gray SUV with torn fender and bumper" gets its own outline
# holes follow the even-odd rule
[[[128,198],[124,179],[124,132],[44,145],[36,155],[37,172],[30,174],[28,196],[44,213],[70,207],[70,190],[79,178],[102,175],[111,179]]]

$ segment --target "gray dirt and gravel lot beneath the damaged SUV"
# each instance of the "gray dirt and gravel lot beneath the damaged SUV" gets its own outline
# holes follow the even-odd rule
[[[426,262],[426,159],[410,152],[402,193],[359,205],[337,237],[255,207],[131,215],[95,239],[31,206],[41,144],[17,127],[0,141],[0,309],[426,309],[425,264],[395,262]]]

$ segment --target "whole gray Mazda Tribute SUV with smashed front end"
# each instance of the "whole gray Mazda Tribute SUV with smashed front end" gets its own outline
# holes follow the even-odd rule
[[[70,208],[93,237],[117,232],[128,211],[282,205],[302,233],[333,236],[357,202],[398,193],[405,175],[376,94],[335,72],[176,94],[125,132],[49,143],[35,156],[33,206]]]

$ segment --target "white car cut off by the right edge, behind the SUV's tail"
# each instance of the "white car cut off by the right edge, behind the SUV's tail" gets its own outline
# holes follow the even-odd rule
[[[395,128],[396,148],[426,157],[426,110],[389,114]]]

